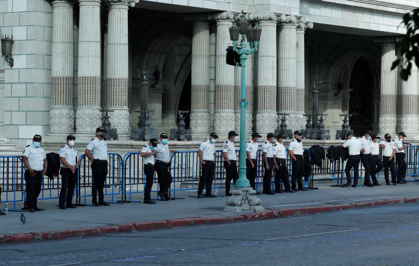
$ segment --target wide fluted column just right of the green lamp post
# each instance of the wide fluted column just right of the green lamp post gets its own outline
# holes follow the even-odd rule
[[[259,133],[277,128],[277,38],[276,15],[269,13],[260,22],[258,46],[256,129]],[[294,74],[295,75],[295,74]]]

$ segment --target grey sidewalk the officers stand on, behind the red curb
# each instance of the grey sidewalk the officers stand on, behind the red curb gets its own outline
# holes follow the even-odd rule
[[[383,180],[380,180],[380,183],[382,182]],[[394,199],[405,198],[411,198],[408,202],[416,202],[415,198],[419,196],[419,183],[417,182],[410,182],[404,185],[398,184],[397,186],[383,185],[376,186],[374,188],[363,186],[358,186],[358,188],[334,188],[330,187],[330,185],[330,183],[318,184],[317,187],[319,189],[313,191],[299,191],[296,193],[282,193],[275,195],[261,194],[259,195],[259,198],[262,201],[261,205],[268,212],[269,210],[277,210],[277,212],[270,212],[271,215],[267,215],[266,217],[269,218],[279,216],[279,214],[275,215],[275,213],[282,213],[280,216],[300,214],[301,209],[303,209],[304,214],[321,212],[322,210],[331,211],[371,205],[370,203],[360,204],[362,206],[355,205],[356,203],[360,202],[380,201],[378,204],[385,205],[404,203],[405,200],[398,202]],[[220,189],[218,193],[222,195],[224,194],[224,191]],[[118,230],[121,231],[120,228],[118,229],[116,227],[109,226],[120,225],[124,223],[143,222],[141,224],[145,225],[145,227],[148,226],[148,229],[150,229],[150,223],[144,222],[160,221],[160,228],[164,228],[174,227],[173,225],[170,226],[170,224],[167,225],[167,220],[173,219],[196,217],[209,218],[209,220],[202,219],[201,223],[203,224],[210,223],[208,221],[210,221],[212,218],[217,218],[215,220],[219,221],[219,218],[223,217],[233,217],[233,220],[230,218],[228,219],[230,222],[235,220],[234,217],[237,217],[237,221],[248,220],[249,216],[247,214],[249,214],[249,212],[235,213],[223,211],[226,197],[203,199],[189,197],[189,195],[195,196],[196,194],[196,191],[178,191],[176,192],[176,197],[184,197],[185,199],[157,201],[156,204],[143,204],[142,202],[135,202],[125,204],[111,204],[109,207],[78,207],[77,209],[66,210],[58,209],[58,207],[55,206],[57,204],[57,200],[39,201],[38,206],[45,208],[46,210],[34,213],[25,212],[24,215],[26,216],[26,224],[24,225],[20,222],[21,212],[9,212],[5,216],[0,216],[0,243],[8,243],[7,241],[4,241],[4,236],[2,236],[5,234],[44,232],[47,235],[49,234],[49,236],[45,237],[39,236],[39,240],[41,240],[41,238],[44,240],[45,238],[58,239],[74,237],[71,234],[60,235],[60,233],[58,233],[56,238],[51,238],[51,232],[62,231],[62,234],[65,232],[65,230],[92,227],[108,226],[103,232],[98,232],[98,234],[115,231],[118,232]],[[152,194],[152,196],[155,195]],[[138,200],[140,198],[138,198],[138,196],[134,196],[133,199]],[[90,203],[90,199],[88,200],[88,203]],[[1,207],[3,208],[4,205],[2,204]],[[267,212],[259,212],[258,215],[261,213],[266,214]],[[250,212],[250,214],[252,213]],[[186,222],[188,221],[190,223],[194,223],[194,219],[186,220]],[[197,222],[195,222],[195,224],[197,224]],[[179,225],[181,225],[181,223],[179,223]],[[127,228],[127,230],[122,231],[125,232],[131,230],[138,230],[138,227]],[[81,233],[80,236],[89,234],[94,234],[94,232],[92,233],[92,230],[86,231],[85,233]],[[31,241],[33,240],[33,236],[34,233],[32,233],[31,236],[23,235],[23,240],[26,238],[26,241],[22,240],[21,242]],[[14,241],[13,237],[10,238],[9,241],[20,242]]]

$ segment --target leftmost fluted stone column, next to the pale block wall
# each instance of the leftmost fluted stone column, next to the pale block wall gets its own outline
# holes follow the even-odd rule
[[[52,2],[52,69],[49,133],[74,132],[73,2]]]

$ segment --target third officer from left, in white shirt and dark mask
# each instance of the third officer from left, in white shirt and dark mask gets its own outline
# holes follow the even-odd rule
[[[86,157],[91,161],[92,168],[92,204],[96,207],[99,205],[109,206],[103,198],[103,186],[108,175],[108,147],[106,146],[105,129],[98,127],[96,129],[96,137],[92,139],[86,147]],[[99,194],[99,202],[96,201],[96,194]]]

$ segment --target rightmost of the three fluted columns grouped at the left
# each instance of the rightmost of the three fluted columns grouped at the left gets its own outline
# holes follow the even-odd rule
[[[123,1],[108,4],[105,62],[103,107],[114,111],[109,120],[119,137],[128,137],[128,4]]]

